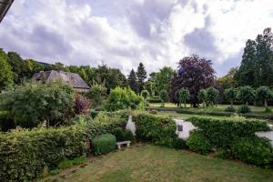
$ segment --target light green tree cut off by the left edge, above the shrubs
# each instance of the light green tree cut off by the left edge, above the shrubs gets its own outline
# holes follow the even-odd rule
[[[0,49],[0,92],[6,86],[11,86],[14,83],[12,67],[7,62],[5,52]]]

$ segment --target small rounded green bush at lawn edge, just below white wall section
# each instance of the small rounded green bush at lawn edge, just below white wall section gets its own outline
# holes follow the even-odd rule
[[[188,137],[187,146],[192,151],[195,151],[203,155],[207,154],[212,149],[207,137],[204,136],[203,132],[200,131],[194,131]]]

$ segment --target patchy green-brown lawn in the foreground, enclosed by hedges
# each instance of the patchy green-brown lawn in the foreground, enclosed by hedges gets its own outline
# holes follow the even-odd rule
[[[88,166],[62,171],[48,181],[228,181],[272,182],[273,171],[240,162],[201,156],[187,150],[140,144],[107,154],[90,157]],[[60,176],[66,174],[66,179]],[[46,180],[47,181],[47,180]]]

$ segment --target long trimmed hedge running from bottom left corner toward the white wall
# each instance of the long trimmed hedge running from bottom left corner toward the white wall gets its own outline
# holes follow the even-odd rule
[[[89,138],[125,126],[126,119],[114,113],[82,125],[0,134],[0,181],[32,181],[45,167],[54,169],[62,160],[86,155]]]

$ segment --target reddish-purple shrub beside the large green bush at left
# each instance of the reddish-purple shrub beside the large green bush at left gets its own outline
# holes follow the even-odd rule
[[[75,105],[74,111],[76,115],[87,114],[90,108],[90,101],[86,96],[76,95],[75,96]]]

